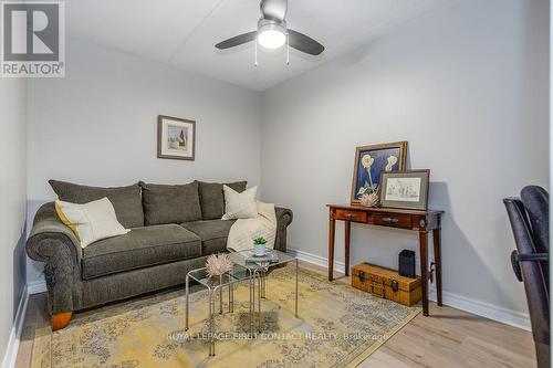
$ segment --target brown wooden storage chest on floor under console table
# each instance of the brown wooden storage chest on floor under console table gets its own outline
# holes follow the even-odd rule
[[[422,297],[420,276],[404,277],[397,271],[371,263],[352,267],[352,286],[407,306]]]

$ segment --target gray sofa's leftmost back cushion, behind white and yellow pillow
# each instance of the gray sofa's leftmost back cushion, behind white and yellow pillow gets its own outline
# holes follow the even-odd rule
[[[104,197],[112,202],[117,221],[126,229],[144,227],[140,187],[88,187],[66,181],[49,180],[58,198],[64,202],[84,204]]]

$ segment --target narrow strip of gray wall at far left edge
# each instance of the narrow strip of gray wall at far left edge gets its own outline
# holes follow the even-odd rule
[[[27,81],[0,78],[0,359],[25,284]]]

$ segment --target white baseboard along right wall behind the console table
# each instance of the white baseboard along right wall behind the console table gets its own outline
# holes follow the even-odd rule
[[[316,264],[319,266],[327,267],[328,259],[300,251],[298,249],[289,249],[291,255],[298,256],[300,261]],[[334,271],[344,273],[345,264],[343,262],[334,261]],[[434,285],[430,286],[429,298],[436,302],[436,291]],[[505,325],[514,326],[525,330],[531,330],[530,316],[525,313],[508,309],[501,306],[489,304],[486,302],[477,301],[467,296],[457,295],[449,292],[442,292],[442,303],[456,309],[469,312],[481,317],[493,319]]]

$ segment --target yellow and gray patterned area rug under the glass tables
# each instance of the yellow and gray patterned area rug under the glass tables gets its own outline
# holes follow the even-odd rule
[[[233,313],[223,297],[215,357],[205,338],[207,292],[190,295],[185,332],[185,293],[178,290],[76,314],[55,333],[36,330],[32,367],[355,367],[420,313],[301,270],[295,318],[294,276],[293,265],[269,275],[257,338],[247,334],[248,284],[236,286]]]

